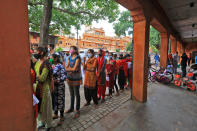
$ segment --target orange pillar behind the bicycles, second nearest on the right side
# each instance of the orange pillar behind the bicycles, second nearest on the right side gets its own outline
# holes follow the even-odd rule
[[[167,67],[169,35],[168,33],[160,33],[160,36],[161,36],[160,66]]]

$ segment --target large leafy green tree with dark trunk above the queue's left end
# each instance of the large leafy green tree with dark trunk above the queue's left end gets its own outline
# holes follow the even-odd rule
[[[70,34],[72,26],[80,29],[81,25],[91,25],[94,20],[113,22],[119,14],[114,0],[28,0],[28,4],[30,30],[40,32],[43,37],[49,33]],[[46,38],[41,40],[41,44],[47,43]]]

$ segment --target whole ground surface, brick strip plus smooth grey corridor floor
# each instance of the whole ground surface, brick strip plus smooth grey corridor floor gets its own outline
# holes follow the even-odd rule
[[[197,92],[149,83],[147,103],[129,98],[127,90],[97,109],[93,104],[82,107],[78,119],[65,114],[62,126],[53,121],[52,131],[197,131]]]

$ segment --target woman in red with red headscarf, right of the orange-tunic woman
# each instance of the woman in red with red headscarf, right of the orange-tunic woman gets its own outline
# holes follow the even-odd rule
[[[105,59],[105,52],[102,49],[99,50],[98,55],[98,99],[100,100],[102,97],[101,103],[103,103],[105,102],[105,65],[107,61]]]

